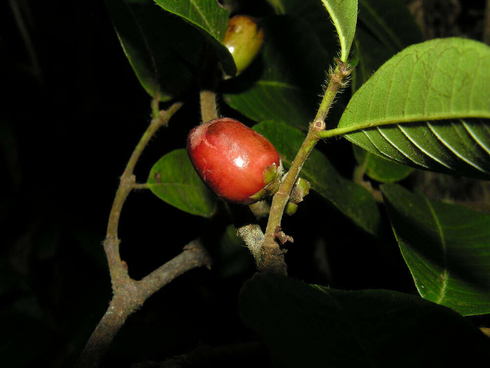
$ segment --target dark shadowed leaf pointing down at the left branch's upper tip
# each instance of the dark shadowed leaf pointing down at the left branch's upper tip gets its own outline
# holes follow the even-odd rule
[[[147,93],[152,97],[158,93],[166,101],[183,92],[204,58],[203,36],[153,1],[106,0],[106,4],[124,53]],[[178,40],[193,40],[192,50]]]

